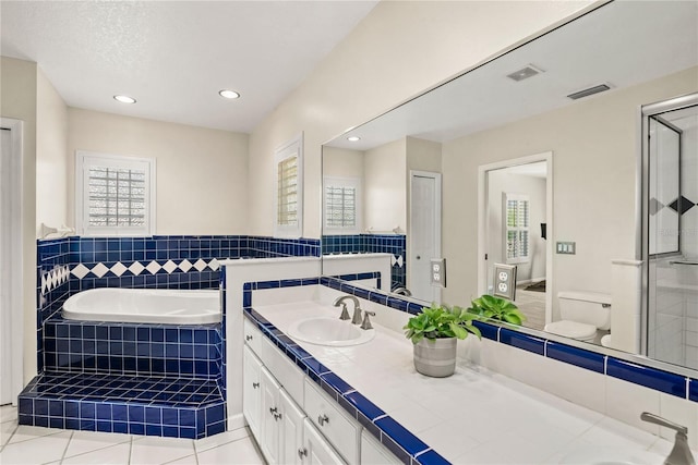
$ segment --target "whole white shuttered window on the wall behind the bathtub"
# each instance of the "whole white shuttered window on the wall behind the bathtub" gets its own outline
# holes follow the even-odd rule
[[[155,160],[77,152],[76,219],[83,235],[152,235]]]

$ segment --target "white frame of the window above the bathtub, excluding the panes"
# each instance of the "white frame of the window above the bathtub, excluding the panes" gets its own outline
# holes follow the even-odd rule
[[[145,219],[143,227],[91,227],[88,192],[89,167],[145,169]],[[156,160],[155,158],[75,151],[75,230],[84,236],[151,236],[156,232]]]

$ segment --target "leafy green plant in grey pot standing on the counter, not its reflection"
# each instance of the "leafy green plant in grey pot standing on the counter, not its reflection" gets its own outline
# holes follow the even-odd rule
[[[456,369],[456,343],[468,334],[481,338],[472,325],[478,316],[461,307],[432,304],[409,319],[405,335],[414,344],[414,368],[422,375],[444,378]]]

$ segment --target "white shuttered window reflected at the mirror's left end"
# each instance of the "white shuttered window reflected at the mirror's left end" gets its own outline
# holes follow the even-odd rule
[[[361,230],[361,181],[358,178],[324,179],[325,234],[358,234]]]

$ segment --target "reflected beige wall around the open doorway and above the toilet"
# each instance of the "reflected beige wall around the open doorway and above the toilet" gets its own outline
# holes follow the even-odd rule
[[[611,293],[611,260],[636,253],[638,109],[696,91],[698,69],[444,144],[445,301],[478,294],[478,167],[553,151],[553,225],[549,241],[574,241],[576,255],[554,255],[558,291]],[[554,317],[557,303],[554,302]]]

